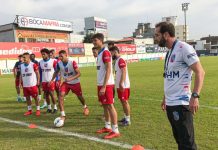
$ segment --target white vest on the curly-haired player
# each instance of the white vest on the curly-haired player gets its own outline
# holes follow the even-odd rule
[[[42,72],[42,82],[50,82],[53,74],[55,72],[55,66],[54,63],[56,63],[55,59],[49,59],[47,61],[41,60],[39,62],[40,69]]]

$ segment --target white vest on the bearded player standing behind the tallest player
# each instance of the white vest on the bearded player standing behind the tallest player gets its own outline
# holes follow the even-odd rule
[[[119,57],[116,60],[116,62],[115,62],[116,88],[119,88],[119,84],[120,84],[120,80],[121,80],[121,75],[122,75],[121,68],[119,67],[120,59],[123,59],[123,58]],[[124,88],[130,88],[130,81],[129,81],[129,74],[128,74],[128,69],[127,69],[127,63],[126,63],[126,80],[124,80],[123,87]]]

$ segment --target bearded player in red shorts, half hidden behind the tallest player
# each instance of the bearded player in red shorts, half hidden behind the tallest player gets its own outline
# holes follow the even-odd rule
[[[129,74],[127,69],[127,63],[120,56],[120,51],[116,46],[111,47],[110,49],[113,60],[115,60],[115,86],[117,89],[118,98],[120,99],[123,111],[124,118],[120,121],[123,126],[128,126],[130,122],[130,106],[129,106],[129,96],[130,96],[130,81]]]

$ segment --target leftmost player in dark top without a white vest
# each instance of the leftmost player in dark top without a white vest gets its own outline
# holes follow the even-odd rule
[[[20,83],[20,66],[23,63],[23,56],[19,55],[18,56],[18,61],[15,63],[14,68],[13,68],[13,72],[14,72],[14,77],[15,77],[15,87],[16,87],[16,91],[17,91],[17,101],[21,102],[22,98],[20,96],[20,85],[22,85]]]

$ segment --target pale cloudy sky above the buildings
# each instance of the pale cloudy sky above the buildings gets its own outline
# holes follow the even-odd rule
[[[0,25],[12,23],[16,15],[73,22],[74,32],[84,30],[84,18],[102,17],[108,21],[111,38],[132,36],[138,23],[152,26],[162,17],[178,16],[184,24],[181,4],[187,11],[189,39],[218,36],[218,0],[0,0]]]

